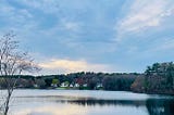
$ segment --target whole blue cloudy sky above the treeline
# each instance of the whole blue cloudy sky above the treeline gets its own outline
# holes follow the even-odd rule
[[[10,30],[40,74],[174,61],[174,0],[0,0],[0,36]]]

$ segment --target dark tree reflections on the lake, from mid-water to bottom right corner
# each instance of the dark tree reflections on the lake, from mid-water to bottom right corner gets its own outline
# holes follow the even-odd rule
[[[149,100],[62,100],[61,103],[77,104],[82,106],[146,106],[149,115],[174,115],[174,100],[149,99]]]

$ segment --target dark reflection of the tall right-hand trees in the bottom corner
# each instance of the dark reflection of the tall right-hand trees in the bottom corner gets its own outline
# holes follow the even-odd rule
[[[149,115],[174,115],[174,100],[147,100]]]

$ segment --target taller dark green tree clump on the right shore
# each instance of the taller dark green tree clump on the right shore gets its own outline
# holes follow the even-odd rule
[[[137,77],[132,90],[146,93],[174,94],[174,63],[154,63]]]

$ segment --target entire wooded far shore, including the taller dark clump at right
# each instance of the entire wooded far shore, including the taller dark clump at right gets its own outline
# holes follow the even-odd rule
[[[154,63],[141,74],[80,72],[66,75],[13,75],[9,78],[18,78],[15,88],[64,88],[174,94],[173,62]],[[7,88],[4,79],[8,77],[0,77],[1,89]]]

